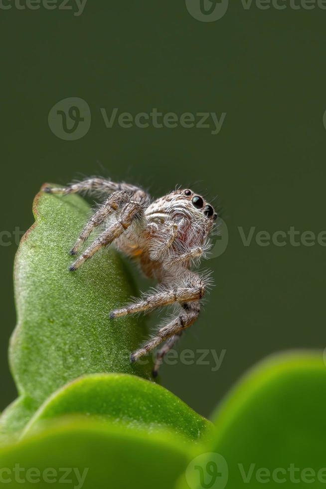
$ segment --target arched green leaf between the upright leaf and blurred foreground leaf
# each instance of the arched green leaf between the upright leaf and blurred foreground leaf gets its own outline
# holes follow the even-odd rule
[[[53,394],[27,425],[29,434],[42,422],[63,415],[97,416],[148,431],[169,428],[191,440],[199,440],[211,423],[163,387],[126,374],[94,374],[82,377]]]

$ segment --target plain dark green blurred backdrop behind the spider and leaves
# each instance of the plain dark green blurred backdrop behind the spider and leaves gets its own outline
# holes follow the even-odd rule
[[[0,10],[1,231],[32,224],[43,182],[84,175],[138,183],[155,197],[176,184],[218,196],[229,243],[205,263],[216,286],[178,351],[226,354],[215,372],[214,362],[162,369],[163,385],[204,415],[259,359],[325,345],[326,247],[254,239],[244,246],[238,231],[326,230],[325,25],[320,8],[245,10],[240,1],[214,22],[193,18],[184,1],[88,0],[80,16]],[[76,141],[48,125],[51,107],[68,97],[84,99],[92,114],[89,132]],[[100,108],[110,114],[115,107],[134,115],[153,107],[227,115],[217,135],[107,129]],[[15,397],[7,343],[17,246],[8,236],[0,246],[0,409]]]

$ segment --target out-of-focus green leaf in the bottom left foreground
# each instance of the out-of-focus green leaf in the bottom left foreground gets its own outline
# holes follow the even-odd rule
[[[74,417],[0,448],[1,482],[12,489],[167,489],[190,458],[191,447],[170,432]]]

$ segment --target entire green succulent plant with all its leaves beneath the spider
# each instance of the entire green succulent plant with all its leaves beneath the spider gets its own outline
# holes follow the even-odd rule
[[[86,203],[38,194],[33,212],[15,262],[10,366],[19,397],[0,418],[1,483],[220,489],[278,487],[282,479],[285,487],[325,487],[322,352],[266,360],[211,423],[154,383],[150,363],[130,364],[144,322],[107,320],[135,292],[121,257],[109,250],[66,273]]]

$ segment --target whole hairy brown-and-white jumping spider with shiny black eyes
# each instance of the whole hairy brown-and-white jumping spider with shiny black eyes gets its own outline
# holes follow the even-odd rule
[[[208,237],[217,219],[214,209],[190,189],[178,187],[153,201],[139,187],[102,178],[89,178],[65,188],[45,187],[43,191],[63,195],[89,191],[105,197],[70,254],[77,254],[96,228],[104,226],[104,230],[73,262],[71,271],[77,270],[102,247],[114,243],[117,249],[138,261],[147,277],[158,281],[150,293],[110,312],[110,319],[172,304],[177,306],[175,317],[130,355],[131,362],[136,362],[165,341],[157,352],[153,370],[157,376],[163,356],[183,330],[198,318],[200,299],[210,278],[208,273],[199,274],[193,268],[210,247]]]

